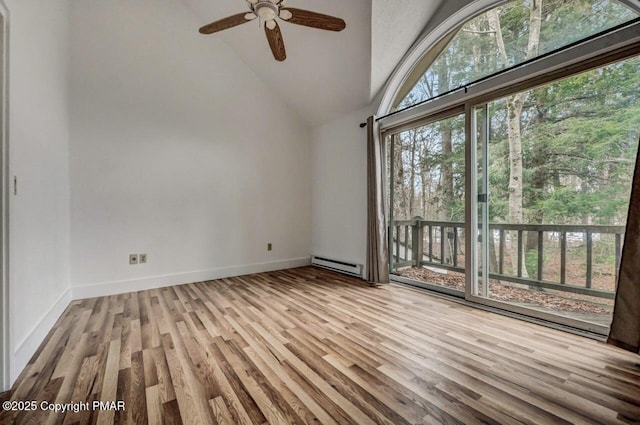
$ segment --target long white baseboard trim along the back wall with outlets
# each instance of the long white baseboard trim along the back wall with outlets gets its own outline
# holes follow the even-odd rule
[[[247,264],[242,266],[219,267],[195,272],[176,273],[145,277],[142,279],[118,280],[73,286],[71,288],[74,300],[104,297],[127,292],[144,291],[147,289],[164,288],[171,285],[203,282],[207,280],[223,279],[225,277],[243,276],[247,274],[270,272],[274,270],[292,269],[311,264],[311,257],[291,258],[268,263]]]

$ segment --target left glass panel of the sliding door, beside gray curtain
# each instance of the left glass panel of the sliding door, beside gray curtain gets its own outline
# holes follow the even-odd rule
[[[465,290],[465,116],[387,137],[389,245],[396,279]]]

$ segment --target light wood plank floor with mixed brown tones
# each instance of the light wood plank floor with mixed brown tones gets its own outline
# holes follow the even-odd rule
[[[638,356],[395,285],[301,268],[74,301],[12,400],[125,411],[1,423],[640,422]]]

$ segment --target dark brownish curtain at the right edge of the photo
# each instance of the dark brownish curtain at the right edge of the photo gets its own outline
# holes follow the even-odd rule
[[[640,353],[640,155],[631,187],[609,344]]]

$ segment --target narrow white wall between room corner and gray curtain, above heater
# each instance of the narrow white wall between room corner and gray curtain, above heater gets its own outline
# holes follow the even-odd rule
[[[315,128],[313,148],[314,255],[364,264],[367,241],[368,107]]]

